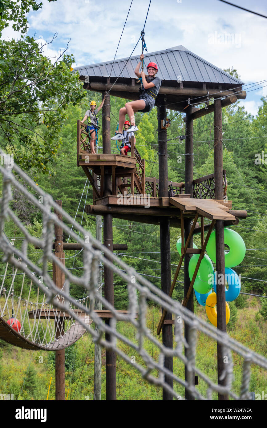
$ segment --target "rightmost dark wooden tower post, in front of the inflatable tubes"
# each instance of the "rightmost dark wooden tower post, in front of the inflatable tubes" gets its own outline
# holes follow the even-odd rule
[[[214,181],[215,199],[223,199],[223,123],[222,101],[214,100]],[[217,220],[215,224],[215,248],[217,276],[222,274],[220,284],[217,283],[217,329],[226,332],[225,314],[225,259],[224,259],[224,224]],[[218,383],[225,385],[226,378],[220,380],[225,369],[223,346],[217,342]],[[218,394],[219,400],[228,400],[227,394]]]

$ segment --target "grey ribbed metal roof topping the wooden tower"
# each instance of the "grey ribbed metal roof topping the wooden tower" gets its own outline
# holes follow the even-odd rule
[[[134,70],[139,62],[139,55],[133,56],[128,62],[127,60],[128,58],[116,59],[113,64],[111,76],[110,71],[113,61],[85,65],[77,67],[75,70],[78,70],[81,76],[118,77],[120,75],[120,77],[136,77]],[[177,82],[180,76],[180,80],[183,82],[243,84],[243,82],[237,80],[221,68],[188,51],[182,45],[166,49],[165,51],[146,53],[145,64],[148,64],[148,62],[157,63],[159,68],[157,76],[162,80]],[[121,72],[122,74],[120,74]]]

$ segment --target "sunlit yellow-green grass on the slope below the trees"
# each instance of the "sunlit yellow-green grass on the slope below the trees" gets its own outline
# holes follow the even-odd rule
[[[253,298],[253,300],[255,300]],[[235,326],[229,329],[228,334],[238,342],[249,347],[252,351],[266,355],[267,340],[265,331],[267,323],[259,318],[255,320],[255,315],[259,309],[259,303],[252,301],[249,307],[237,310],[237,322]],[[154,326],[153,326],[154,312]],[[205,309],[199,305],[195,305],[195,312],[201,318],[207,320]],[[156,336],[157,322],[160,318],[160,309],[153,307],[148,308],[147,312],[147,327],[153,331]],[[136,329],[129,323],[118,322],[117,328],[119,332],[133,341],[138,343],[136,338]],[[161,340],[161,337],[160,337]],[[83,339],[65,350],[65,357],[68,360],[68,371],[65,377],[65,392],[67,395],[70,389],[68,400],[92,400],[94,388],[94,344],[92,338],[86,334]],[[89,351],[91,345],[91,349]],[[76,348],[77,346],[77,348]],[[128,357],[132,358],[136,363],[145,366],[138,352],[122,341],[117,341],[117,346]],[[153,345],[148,339],[144,340],[144,348],[148,354],[152,355],[155,360],[158,359],[159,349]],[[89,354],[88,354],[89,351]],[[86,356],[88,357],[86,359]],[[52,376],[52,382],[49,392],[49,400],[54,400],[55,397],[55,368],[54,368],[54,353],[45,351],[26,351],[23,349],[12,347],[6,342],[0,342],[0,393],[14,394],[16,400],[46,400],[47,391]],[[239,355],[233,353],[234,362],[234,380],[232,390],[238,394],[240,392],[240,384],[242,381],[242,365],[243,359]],[[118,400],[161,400],[162,390],[158,386],[154,386],[143,380],[134,363],[129,365],[121,357],[117,356],[117,399]],[[217,382],[217,343],[213,339],[205,336],[203,333],[198,333],[196,347],[196,366],[205,375],[210,377],[215,383]],[[26,373],[28,371],[28,375]],[[177,357],[174,358],[174,373],[176,376],[184,379],[184,364]],[[157,376],[157,371],[152,371],[152,374]],[[80,380],[79,380],[80,378]],[[262,391],[267,393],[267,372],[258,366],[251,367],[250,391],[255,391],[256,394],[261,394]],[[199,392],[205,396],[206,383],[199,379],[199,385],[196,386]],[[102,350],[102,400],[106,398],[106,383],[105,383],[105,351]],[[22,390],[22,392],[21,392]],[[178,395],[184,398],[184,388],[179,384],[175,384],[175,391]],[[213,398],[216,400],[217,395],[214,393]]]

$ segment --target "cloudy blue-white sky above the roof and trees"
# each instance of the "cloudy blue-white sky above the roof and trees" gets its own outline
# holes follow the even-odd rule
[[[265,0],[230,0],[239,6],[267,15]],[[47,56],[56,56],[68,40],[68,53],[76,65],[113,59],[131,0],[43,1],[39,12],[30,12],[28,34],[54,42]],[[133,0],[116,58],[129,56],[143,28],[149,0]],[[231,36],[229,36],[231,35]],[[3,37],[18,35],[9,27]],[[148,52],[183,45],[220,68],[234,66],[249,86],[241,101],[249,113],[257,114],[261,97],[267,95],[267,19],[234,8],[218,0],[152,0],[145,25]],[[141,42],[134,52],[141,51]],[[252,90],[253,89],[253,90]]]

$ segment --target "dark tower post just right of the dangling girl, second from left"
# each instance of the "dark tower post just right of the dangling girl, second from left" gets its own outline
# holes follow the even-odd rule
[[[159,154],[159,197],[168,196],[168,163],[167,163],[167,131],[161,129],[161,121],[166,119],[166,104],[163,104],[158,109],[158,154]],[[171,245],[169,234],[169,217],[160,218],[160,270],[161,270],[161,290],[169,294],[172,276],[171,276]],[[162,308],[162,312],[163,312]],[[172,319],[172,313],[166,313],[166,319]],[[162,343],[168,348],[173,347],[172,339],[172,324],[163,324],[162,327]],[[165,357],[164,366],[173,372],[173,358]],[[165,382],[173,387],[173,380],[165,376]],[[173,400],[172,394],[163,389],[163,400]]]

